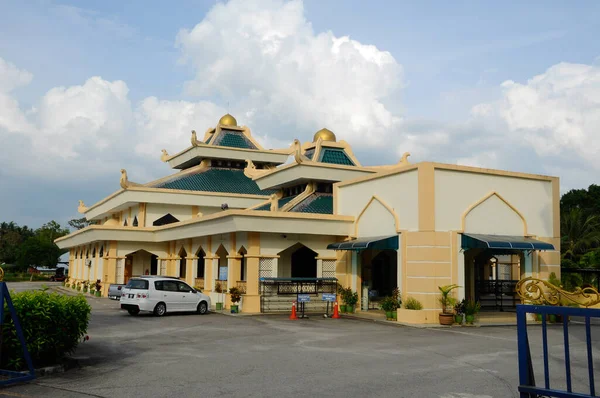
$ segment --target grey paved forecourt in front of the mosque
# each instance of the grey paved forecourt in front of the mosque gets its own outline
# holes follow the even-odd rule
[[[0,390],[0,396],[518,396],[514,327],[417,329],[316,316],[131,317],[118,302],[89,300],[91,339],[76,353],[84,366]],[[560,330],[549,330],[550,370],[564,384]],[[539,346],[540,328],[530,331],[532,346]],[[581,325],[573,325],[579,390],[587,380],[582,338]],[[600,330],[594,339],[598,347]],[[538,354],[534,350],[534,358]]]

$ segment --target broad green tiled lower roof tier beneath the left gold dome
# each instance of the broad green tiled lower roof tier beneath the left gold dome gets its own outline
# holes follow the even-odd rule
[[[260,190],[256,182],[244,175],[243,170],[211,167],[195,174],[175,177],[156,188],[187,191],[227,192],[251,195],[271,195],[273,190]]]

